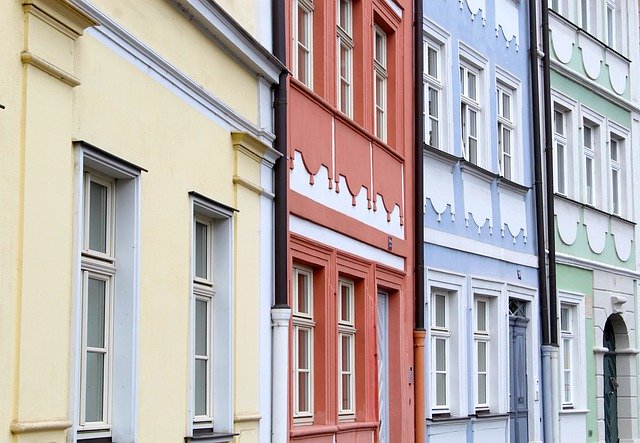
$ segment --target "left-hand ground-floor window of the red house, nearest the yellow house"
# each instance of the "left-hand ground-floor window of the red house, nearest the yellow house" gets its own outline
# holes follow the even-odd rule
[[[293,268],[293,416],[313,417],[313,271]]]

